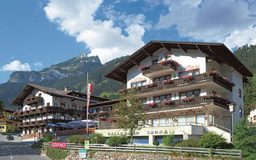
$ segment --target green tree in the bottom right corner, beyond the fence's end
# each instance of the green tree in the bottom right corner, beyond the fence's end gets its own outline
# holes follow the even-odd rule
[[[242,118],[234,126],[234,148],[242,150],[243,157],[250,157],[252,156],[251,154],[256,154],[256,127],[248,126],[248,124],[250,124],[248,120]]]

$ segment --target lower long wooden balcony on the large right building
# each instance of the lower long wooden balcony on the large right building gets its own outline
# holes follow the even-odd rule
[[[217,105],[229,110],[227,104],[228,100],[217,97],[215,95],[202,96],[197,98],[185,98],[169,102],[159,102],[155,104],[148,104],[145,107],[145,112],[161,111],[161,110],[176,110],[189,108],[193,106],[204,106],[204,105]]]

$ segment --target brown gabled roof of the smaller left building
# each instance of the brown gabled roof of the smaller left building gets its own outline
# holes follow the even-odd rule
[[[61,97],[61,98],[73,98],[73,99],[77,99],[77,100],[86,102],[86,98],[79,98],[79,97],[67,94],[67,93],[70,93],[70,92],[66,92],[66,91],[63,91],[63,90],[57,90],[57,89],[46,87],[46,86],[38,86],[38,85],[28,83],[23,88],[23,90],[16,96],[16,98],[14,98],[13,102],[11,102],[10,105],[12,105],[12,106],[22,106],[24,99],[34,89],[41,90],[42,92],[44,92],[46,94],[50,94],[52,96]],[[91,102],[97,102],[97,101],[91,100]]]

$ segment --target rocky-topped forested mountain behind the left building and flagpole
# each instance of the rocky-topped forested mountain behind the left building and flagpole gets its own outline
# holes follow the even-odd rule
[[[86,54],[80,54],[76,58],[40,71],[14,71],[10,74],[8,82],[0,84],[0,98],[6,106],[10,106],[10,102],[27,83],[60,90],[63,90],[64,86],[69,86],[70,90],[86,92],[86,73],[89,74],[89,82],[94,83],[92,94],[111,99],[118,98],[116,92],[125,84],[103,78],[102,75],[125,58],[127,57],[116,58],[103,65],[98,56],[87,57]]]

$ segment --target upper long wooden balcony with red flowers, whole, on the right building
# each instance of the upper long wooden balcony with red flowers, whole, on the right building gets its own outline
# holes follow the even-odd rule
[[[178,78],[167,80],[165,82],[152,83],[147,86],[138,86],[134,89],[137,94],[162,94],[174,90],[181,91],[182,89],[188,90],[188,87],[200,88],[201,86],[213,86],[214,88],[226,89],[228,92],[232,91],[233,83],[226,81],[218,75],[198,74],[195,76],[188,76],[185,78]]]

